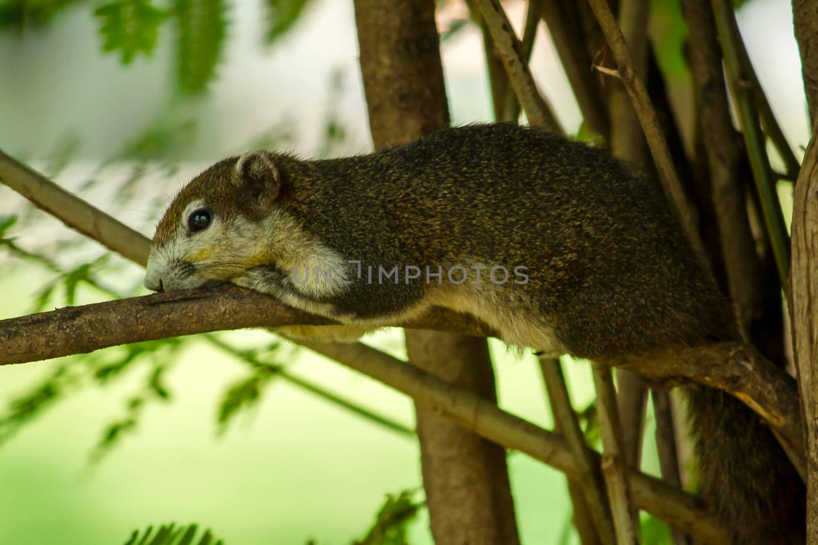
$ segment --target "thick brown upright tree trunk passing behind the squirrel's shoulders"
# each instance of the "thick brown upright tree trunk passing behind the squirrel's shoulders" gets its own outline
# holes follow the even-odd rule
[[[366,104],[376,148],[449,124],[432,0],[356,0]],[[411,363],[496,401],[484,338],[407,331]],[[519,543],[506,451],[416,404],[420,460],[437,543]]]

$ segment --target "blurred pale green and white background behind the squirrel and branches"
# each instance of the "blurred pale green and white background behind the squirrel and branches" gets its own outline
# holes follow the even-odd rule
[[[453,122],[489,121],[479,32],[462,22],[461,2],[438,3]],[[519,24],[524,2],[505,5]],[[134,31],[122,17],[146,6]],[[659,14],[677,9],[654,2]],[[806,144],[789,9],[751,0],[739,23],[784,131]],[[684,81],[673,62],[684,29],[657,32],[663,69]],[[544,27],[532,66],[577,132]],[[0,0],[0,148],[145,235],[191,175],[262,145],[328,157],[371,149],[352,2]],[[2,186],[0,216],[0,318],[145,293],[137,266],[95,261],[101,248]],[[411,400],[339,364],[285,342],[271,350],[261,331],[218,339],[414,425]],[[405,357],[399,330],[366,342]],[[491,347],[502,408],[551,427],[536,360]],[[0,543],[124,543],[133,529],[174,520],[200,522],[229,545],[333,545],[366,535],[387,494],[416,490],[422,500],[413,437],[259,369],[194,337],[0,369]],[[566,372],[584,408],[590,370]],[[240,406],[220,424],[231,403]],[[523,542],[577,543],[561,474],[515,453],[509,469]],[[408,543],[431,543],[427,525],[421,508]]]

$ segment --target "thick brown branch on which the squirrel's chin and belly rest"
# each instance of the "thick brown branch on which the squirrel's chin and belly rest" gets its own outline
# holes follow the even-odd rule
[[[0,365],[86,354],[129,342],[290,324],[337,323],[232,285],[156,293],[0,320]],[[438,307],[405,327],[492,335],[469,315]]]

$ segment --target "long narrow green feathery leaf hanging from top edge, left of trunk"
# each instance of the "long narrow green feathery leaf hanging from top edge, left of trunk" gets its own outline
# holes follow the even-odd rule
[[[215,76],[227,34],[225,11],[222,0],[176,0],[177,77],[183,92],[204,92]]]

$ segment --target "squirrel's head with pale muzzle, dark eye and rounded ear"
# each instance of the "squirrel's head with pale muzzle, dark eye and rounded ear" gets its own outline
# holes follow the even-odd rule
[[[228,282],[269,263],[261,236],[281,191],[275,155],[254,151],[196,176],[156,226],[145,287],[157,292]]]

